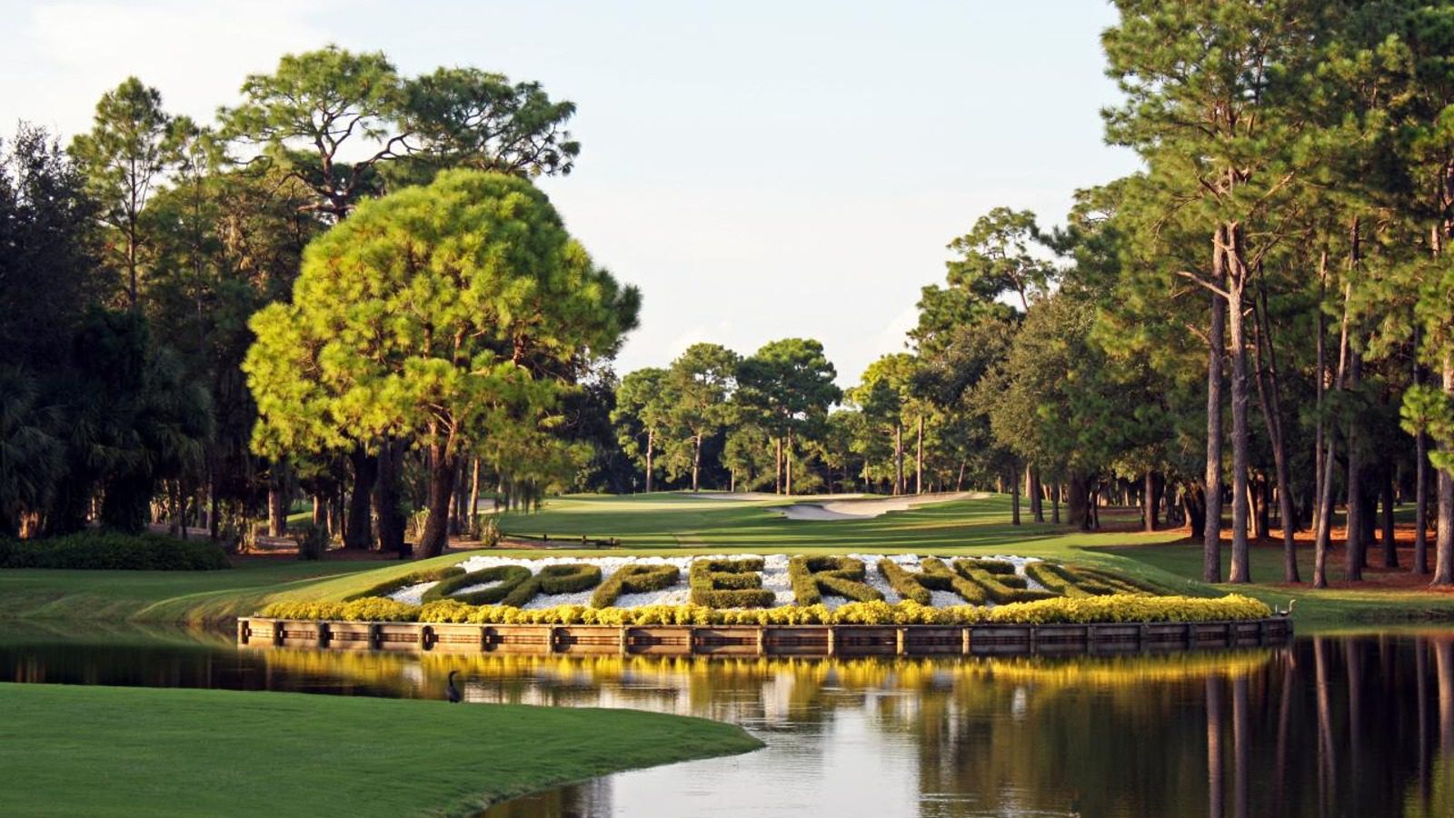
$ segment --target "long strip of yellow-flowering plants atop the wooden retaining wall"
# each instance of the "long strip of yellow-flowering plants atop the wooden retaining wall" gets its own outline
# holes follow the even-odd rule
[[[259,616],[289,620],[427,622],[474,624],[1092,624],[1115,622],[1229,622],[1265,619],[1272,610],[1262,601],[1239,594],[1217,600],[1200,597],[1056,597],[1012,603],[995,608],[954,605],[933,608],[915,601],[890,604],[848,603],[838,610],[824,605],[785,605],[762,610],[723,610],[707,605],[643,605],[640,608],[593,608],[557,605],[515,608],[467,605],[454,600],[423,607],[393,600],[352,603],[273,603]]]

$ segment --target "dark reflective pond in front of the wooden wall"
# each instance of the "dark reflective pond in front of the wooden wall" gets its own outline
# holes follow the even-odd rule
[[[0,623],[0,681],[637,707],[743,725],[749,755],[486,815],[1454,815],[1454,630],[1114,658],[653,659],[243,649]],[[525,748],[528,750],[528,748]]]

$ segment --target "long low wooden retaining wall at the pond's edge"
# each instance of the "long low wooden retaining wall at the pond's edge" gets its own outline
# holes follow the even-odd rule
[[[1106,624],[443,624],[237,620],[249,648],[647,656],[1115,654],[1281,645],[1293,620]]]

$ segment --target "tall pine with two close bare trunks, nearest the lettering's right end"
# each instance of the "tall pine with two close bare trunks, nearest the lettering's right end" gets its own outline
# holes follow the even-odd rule
[[[1198,0],[1166,7],[1118,0],[1118,25],[1102,35],[1108,73],[1125,93],[1105,112],[1106,135],[1147,162],[1166,218],[1200,223],[1211,237],[1210,263],[1181,271],[1213,297],[1208,383],[1217,376],[1217,316],[1226,310],[1232,360],[1232,582],[1250,582],[1248,556],[1248,346],[1245,295],[1264,256],[1288,220],[1278,218],[1297,178],[1293,134],[1304,109],[1296,79],[1317,63],[1320,17],[1306,0]],[[1211,390],[1211,400],[1217,390]],[[1214,424],[1208,400],[1208,477],[1217,482]],[[1208,485],[1208,543],[1217,520]]]

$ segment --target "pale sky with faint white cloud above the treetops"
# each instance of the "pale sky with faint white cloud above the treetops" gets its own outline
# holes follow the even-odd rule
[[[468,64],[579,106],[583,150],[542,185],[571,231],[641,287],[618,370],[688,344],[819,338],[849,384],[903,348],[944,246],[996,205],[1059,223],[1131,170],[1099,0],[0,0],[0,122],[89,125],[128,74],[211,119],[250,71],[337,42],[401,71]]]

